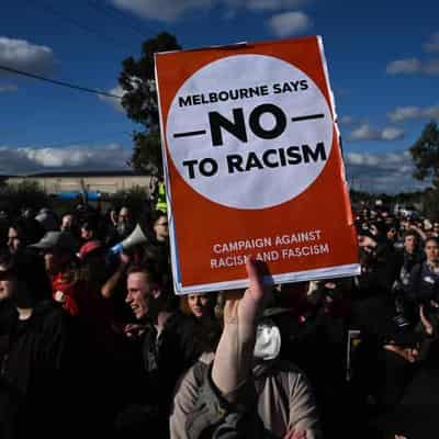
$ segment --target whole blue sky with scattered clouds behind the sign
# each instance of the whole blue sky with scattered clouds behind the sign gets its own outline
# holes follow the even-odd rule
[[[407,148],[439,121],[439,2],[424,0],[5,0],[0,66],[117,90],[122,60],[173,33],[184,48],[322,35],[348,178],[423,187]],[[0,173],[123,169],[139,128],[112,99],[0,70]]]

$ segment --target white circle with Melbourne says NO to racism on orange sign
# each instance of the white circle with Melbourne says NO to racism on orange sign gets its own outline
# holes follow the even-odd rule
[[[166,137],[177,170],[198,193],[228,207],[264,209],[317,179],[333,131],[329,105],[304,71],[272,56],[235,55],[181,86]]]

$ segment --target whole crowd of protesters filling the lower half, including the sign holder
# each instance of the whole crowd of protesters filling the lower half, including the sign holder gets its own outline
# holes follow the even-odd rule
[[[1,212],[0,437],[432,438],[439,222],[354,217],[356,278],[179,297],[161,211]]]

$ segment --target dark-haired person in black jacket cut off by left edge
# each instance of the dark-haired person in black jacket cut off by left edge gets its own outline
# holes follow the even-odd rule
[[[0,323],[0,437],[67,437],[67,320],[50,299],[44,263],[25,254],[3,256],[0,282],[13,304]]]

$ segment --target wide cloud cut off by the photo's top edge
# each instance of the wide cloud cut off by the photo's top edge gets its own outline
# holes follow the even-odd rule
[[[280,11],[308,4],[312,0],[111,0],[114,7],[143,19],[172,22],[190,11],[224,8],[225,16],[234,16],[239,9]]]

